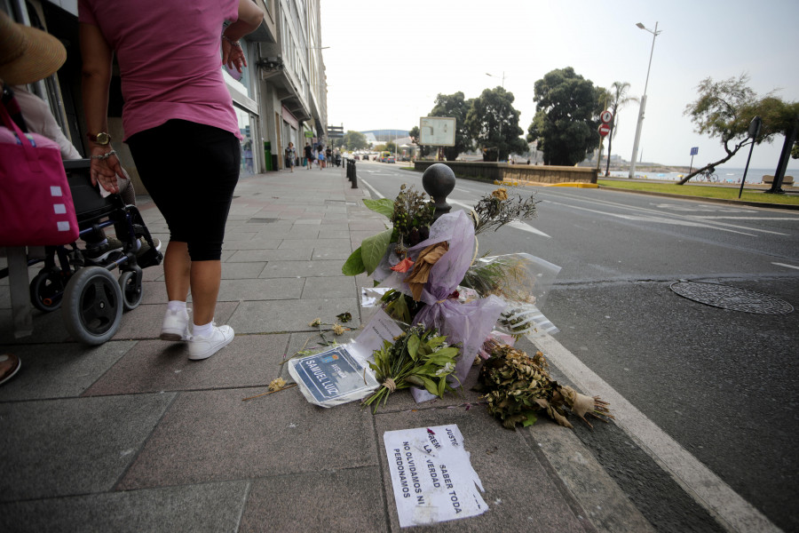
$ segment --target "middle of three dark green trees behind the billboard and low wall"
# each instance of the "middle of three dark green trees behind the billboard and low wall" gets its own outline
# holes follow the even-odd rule
[[[518,127],[518,110],[513,108],[513,93],[502,87],[484,90],[471,100],[466,115],[466,129],[471,139],[483,150],[484,161],[507,159],[514,152],[527,149],[521,138],[524,131]]]

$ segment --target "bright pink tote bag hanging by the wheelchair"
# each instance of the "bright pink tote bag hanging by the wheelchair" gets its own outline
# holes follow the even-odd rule
[[[0,246],[74,242],[79,229],[58,145],[23,133],[2,103],[0,118]]]

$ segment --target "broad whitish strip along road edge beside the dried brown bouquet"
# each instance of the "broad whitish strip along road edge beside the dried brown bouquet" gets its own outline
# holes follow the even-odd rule
[[[627,432],[672,477],[697,498],[711,514],[726,522],[732,531],[779,531],[763,513],[722,481],[679,442],[672,439],[644,413],[590,370],[583,362],[550,335],[530,338],[547,359],[566,374],[583,393],[601,396],[610,402],[616,424]]]

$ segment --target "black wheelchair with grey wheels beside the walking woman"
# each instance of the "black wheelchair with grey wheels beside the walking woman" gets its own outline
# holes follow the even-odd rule
[[[113,226],[123,249],[91,259],[77,243],[45,246],[44,258],[28,261],[28,266],[44,261],[30,282],[30,301],[45,313],[60,308],[72,338],[100,345],[119,330],[123,311],[141,303],[142,269],[160,265],[163,256],[136,206],[125,205],[120,195],[103,198],[91,186],[89,159],[65,161],[64,167],[81,238],[102,235]],[[149,246],[144,252],[137,244],[142,237]],[[118,277],[112,274],[115,269]]]

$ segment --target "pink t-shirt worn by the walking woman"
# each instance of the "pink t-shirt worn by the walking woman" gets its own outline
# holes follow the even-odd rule
[[[238,0],[78,0],[78,20],[99,27],[122,75],[125,139],[178,118],[241,139],[222,77],[222,25]]]

